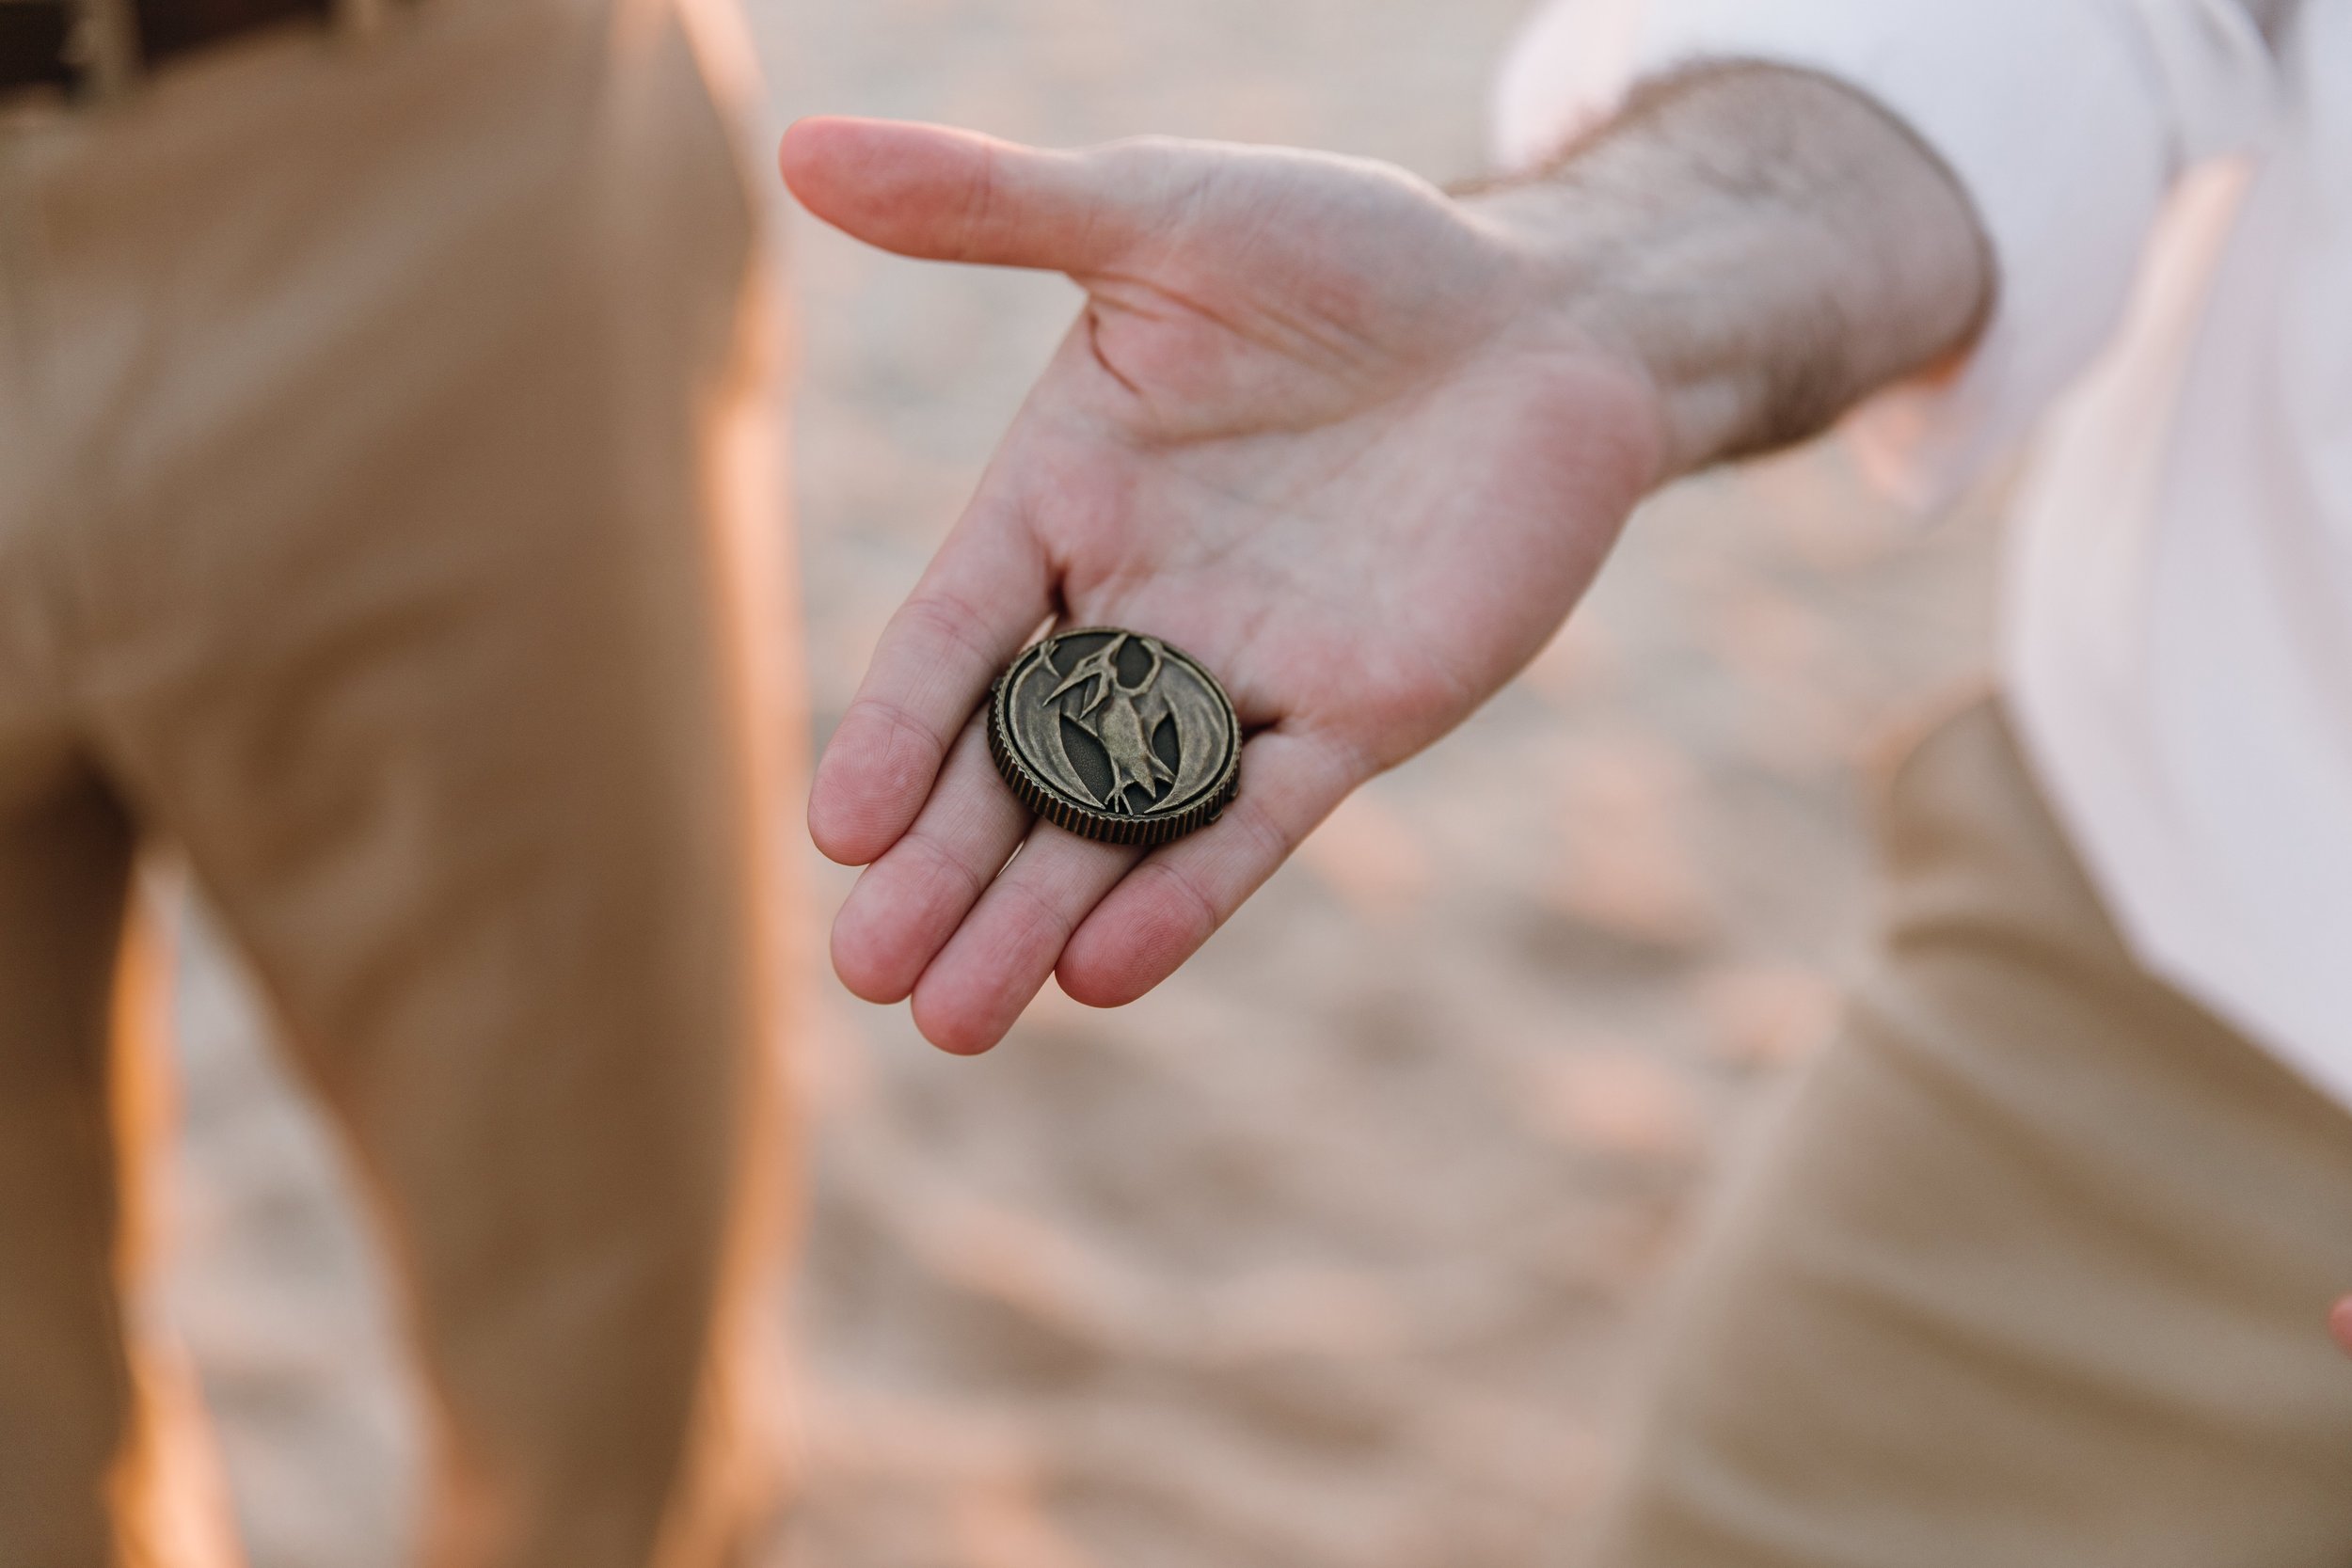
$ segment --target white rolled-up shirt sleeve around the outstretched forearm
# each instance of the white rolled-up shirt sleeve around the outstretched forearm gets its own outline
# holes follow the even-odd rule
[[[1628,85],[1724,59],[1865,92],[1943,155],[1992,240],[1999,299],[1976,350],[1849,421],[1919,505],[2009,456],[2074,383],[2173,181],[2256,146],[2277,92],[2237,0],[1550,0],[1503,68],[1496,150],[1536,162]]]

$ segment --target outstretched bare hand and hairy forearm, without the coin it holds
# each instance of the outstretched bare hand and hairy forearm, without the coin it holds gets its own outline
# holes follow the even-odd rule
[[[1049,973],[1096,1006],[1164,980],[1534,656],[1649,487],[1813,435],[1992,299],[1950,172],[1773,66],[1646,87],[1472,202],[1315,153],[870,120],[807,120],[781,162],[861,240],[1087,292],[809,799],[818,849],[868,867],[835,969],[913,994],[950,1051],[993,1046]],[[1049,618],[1225,682],[1251,738],[1218,823],[1148,856],[1030,825],[974,717]]]

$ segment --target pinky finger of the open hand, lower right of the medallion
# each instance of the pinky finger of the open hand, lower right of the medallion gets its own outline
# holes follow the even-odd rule
[[[1054,969],[1061,990],[1087,1006],[1124,1006],[1167,980],[1367,773],[1322,736],[1254,738],[1225,816],[1143,858],[1070,936]]]

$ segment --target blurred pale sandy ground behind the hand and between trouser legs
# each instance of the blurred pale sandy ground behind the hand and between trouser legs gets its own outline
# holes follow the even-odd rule
[[[779,120],[1454,179],[1519,9],[753,0],[753,26]],[[823,731],[1075,292],[790,242]],[[1557,1554],[1708,1178],[1835,1020],[1867,759],[1980,672],[1987,555],[1983,515],[1893,517],[1835,454],[1689,484],[1519,684],[1148,1001],[1049,994],[953,1060],[811,980],[797,1561]],[[849,875],[807,858],[821,933]],[[200,922],[186,952],[172,1307],[254,1568],[390,1568],[414,1410],[348,1182]]]

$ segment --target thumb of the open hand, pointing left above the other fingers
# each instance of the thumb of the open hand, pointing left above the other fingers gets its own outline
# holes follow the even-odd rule
[[[946,125],[800,120],[776,162],[809,212],[901,256],[1091,273],[1138,230],[1103,160]]]

